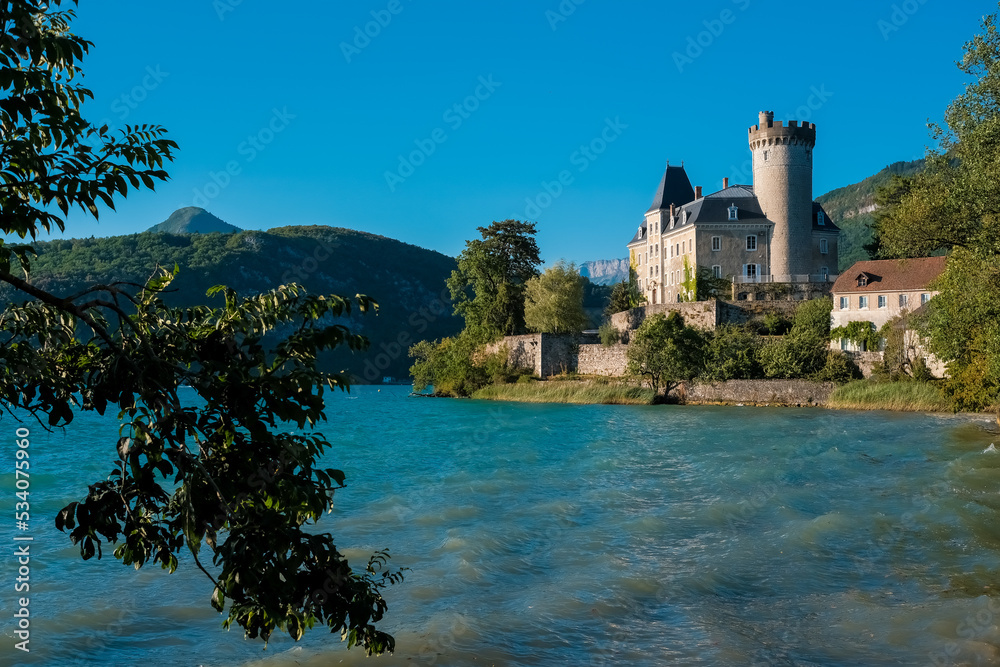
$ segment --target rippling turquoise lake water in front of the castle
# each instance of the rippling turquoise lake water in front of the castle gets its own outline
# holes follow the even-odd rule
[[[52,517],[111,470],[117,430],[81,416],[32,428],[32,651],[13,649],[16,565],[0,556],[0,664],[1000,661],[1000,436],[983,423],[407,392],[339,396],[327,428],[348,475],[328,529],[358,565],[389,548],[410,568],[387,592],[394,656],[322,630],[263,652],[221,629],[189,563],[82,562]],[[0,470],[14,428],[0,422]],[[14,483],[0,474],[5,554]]]

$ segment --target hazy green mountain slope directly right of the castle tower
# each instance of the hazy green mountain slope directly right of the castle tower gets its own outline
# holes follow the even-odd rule
[[[841,230],[840,271],[847,270],[854,262],[871,259],[864,247],[872,241],[875,191],[888,183],[893,174],[909,176],[923,168],[923,160],[894,162],[860,183],[831,190],[817,199]]]

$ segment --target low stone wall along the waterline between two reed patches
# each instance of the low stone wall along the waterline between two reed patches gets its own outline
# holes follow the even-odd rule
[[[688,403],[825,405],[835,384],[809,380],[730,380],[688,385],[673,393]]]

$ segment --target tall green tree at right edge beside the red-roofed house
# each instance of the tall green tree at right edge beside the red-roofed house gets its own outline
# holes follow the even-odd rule
[[[973,80],[932,126],[938,147],[925,170],[879,191],[875,245],[881,257],[950,252],[931,300],[930,349],[948,360],[945,391],[956,409],[1000,399],[1000,32],[997,15],[965,44],[959,68]],[[991,279],[992,278],[992,279]]]

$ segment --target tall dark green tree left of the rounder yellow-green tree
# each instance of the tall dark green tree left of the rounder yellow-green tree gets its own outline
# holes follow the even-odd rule
[[[466,241],[448,279],[455,313],[481,340],[524,331],[524,289],[542,263],[535,224],[519,220],[479,227],[482,239]]]

